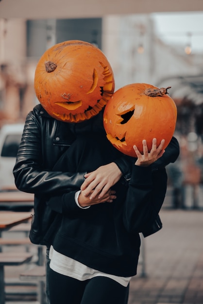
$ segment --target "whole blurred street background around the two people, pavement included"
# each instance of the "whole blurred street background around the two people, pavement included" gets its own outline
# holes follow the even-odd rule
[[[103,1],[102,8],[99,1],[86,1],[87,7],[79,0],[46,2],[0,0],[0,191],[15,187],[23,124],[38,103],[35,67],[52,45],[95,44],[114,70],[115,90],[132,83],[171,86],[180,156],[167,167],[163,229],[143,240],[129,304],[203,304],[203,2]],[[21,269],[15,271],[19,276]]]

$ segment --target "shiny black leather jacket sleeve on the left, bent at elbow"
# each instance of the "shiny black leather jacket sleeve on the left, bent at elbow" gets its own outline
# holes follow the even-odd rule
[[[30,112],[13,170],[17,188],[24,192],[41,194],[78,189],[85,180],[86,172],[71,173],[44,168],[41,142],[41,130],[33,112]]]

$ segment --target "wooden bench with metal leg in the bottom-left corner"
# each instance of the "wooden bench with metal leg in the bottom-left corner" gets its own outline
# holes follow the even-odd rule
[[[17,266],[32,260],[31,253],[0,253],[0,304],[5,304],[4,266]]]

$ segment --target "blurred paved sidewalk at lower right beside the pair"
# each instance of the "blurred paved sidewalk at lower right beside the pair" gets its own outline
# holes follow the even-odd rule
[[[203,304],[203,211],[160,212],[163,228],[144,239],[141,265],[130,284],[128,304]]]

